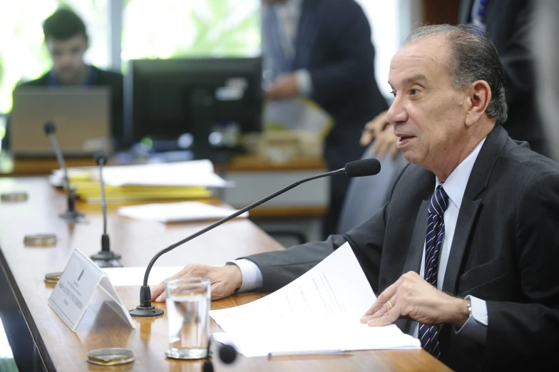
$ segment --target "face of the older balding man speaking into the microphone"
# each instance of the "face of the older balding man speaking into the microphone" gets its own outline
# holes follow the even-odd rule
[[[451,86],[449,48],[442,35],[402,47],[390,63],[394,93],[386,119],[406,160],[434,170],[453,161],[466,138],[466,94]]]

